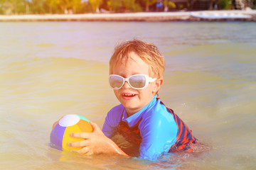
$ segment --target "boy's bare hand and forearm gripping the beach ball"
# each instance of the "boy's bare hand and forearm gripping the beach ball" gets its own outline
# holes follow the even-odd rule
[[[81,137],[85,140],[79,142],[70,142],[70,147],[82,147],[82,149],[71,150],[71,152],[77,152],[79,154],[122,154],[127,156],[122,149],[104,135],[102,130],[96,123],[90,122],[93,128],[93,132],[75,132],[71,133],[72,137]]]

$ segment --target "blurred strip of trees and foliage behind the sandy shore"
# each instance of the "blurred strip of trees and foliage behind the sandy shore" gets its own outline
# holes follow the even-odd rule
[[[127,13],[256,8],[256,0],[0,0],[0,14]]]

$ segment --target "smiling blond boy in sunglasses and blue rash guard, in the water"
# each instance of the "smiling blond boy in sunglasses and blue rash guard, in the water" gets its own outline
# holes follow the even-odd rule
[[[91,123],[92,133],[71,134],[85,139],[69,144],[83,147],[74,152],[142,159],[157,159],[163,153],[180,150],[191,152],[197,139],[156,97],[163,83],[164,65],[164,57],[149,42],[131,40],[118,45],[110,59],[109,81],[121,104],[107,113],[102,131]],[[120,137],[125,142],[119,142]]]

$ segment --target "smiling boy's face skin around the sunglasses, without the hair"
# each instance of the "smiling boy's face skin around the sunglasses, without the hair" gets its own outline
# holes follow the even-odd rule
[[[136,53],[131,52],[129,59],[126,63],[117,65],[113,68],[112,74],[117,74],[124,78],[130,77],[134,74],[147,74],[149,75],[149,65],[146,64]],[[152,77],[155,78],[155,77]],[[132,89],[131,86],[124,82],[124,86],[121,89],[115,89],[114,94],[117,99],[122,103],[128,115],[137,113],[146,106],[153,98],[156,92],[159,90],[158,80],[153,83],[149,83],[145,89]]]

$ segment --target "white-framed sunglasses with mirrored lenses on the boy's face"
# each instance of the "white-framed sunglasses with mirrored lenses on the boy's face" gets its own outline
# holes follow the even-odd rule
[[[146,88],[149,83],[156,81],[156,78],[152,79],[146,74],[135,74],[128,78],[124,78],[116,74],[110,74],[109,81],[112,89],[121,89],[122,86],[124,86],[124,82],[127,81],[129,86],[133,89],[139,90]]]

